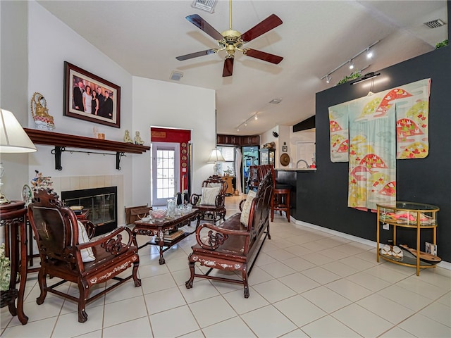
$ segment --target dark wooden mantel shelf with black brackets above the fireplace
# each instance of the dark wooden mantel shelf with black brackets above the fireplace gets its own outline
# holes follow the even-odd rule
[[[57,170],[62,169],[61,152],[66,151],[66,147],[114,151],[116,152],[116,169],[118,170],[121,170],[119,163],[121,162],[121,157],[124,156],[125,153],[142,154],[150,150],[150,146],[110,141],[109,139],[94,139],[94,137],[83,137],[29,128],[24,128],[24,130],[33,143],[55,147],[52,154],[55,155],[55,168]]]

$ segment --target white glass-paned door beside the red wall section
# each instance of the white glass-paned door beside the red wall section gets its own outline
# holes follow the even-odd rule
[[[180,144],[152,142],[152,206],[166,206],[178,192]]]

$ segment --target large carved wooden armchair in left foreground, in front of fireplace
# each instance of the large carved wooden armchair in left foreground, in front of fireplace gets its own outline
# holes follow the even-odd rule
[[[78,223],[75,213],[63,206],[52,189],[39,189],[35,192],[35,197],[28,206],[28,217],[41,258],[38,274],[41,294],[36,299],[39,305],[44,303],[47,292],[77,301],[78,321],[84,323],[87,320],[87,303],[130,278],[135,281],[135,287],[141,286],[141,280],[137,277],[140,257],[137,247],[132,246],[132,232],[128,227],[118,227],[109,234],[90,239],[88,232]],[[89,220],[82,223],[92,225]],[[92,236],[93,232],[89,233]],[[122,242],[123,238],[127,242]],[[130,275],[118,277],[128,268],[132,268]],[[47,275],[61,280],[48,287]],[[89,290],[94,284],[109,280],[117,282],[107,283],[106,289],[89,298]],[[58,286],[65,282],[77,284],[79,295],[62,292]]]

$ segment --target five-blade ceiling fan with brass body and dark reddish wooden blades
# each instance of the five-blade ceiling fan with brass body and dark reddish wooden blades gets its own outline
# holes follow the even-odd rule
[[[235,51],[241,51],[242,54],[251,56],[252,58],[259,58],[260,60],[278,64],[283,60],[282,56],[266,53],[265,51],[257,51],[256,49],[242,48],[243,44],[264,35],[264,33],[272,30],[278,25],[282,24],[282,20],[276,15],[271,14],[261,23],[255,25],[247,32],[241,34],[237,30],[232,29],[232,0],[229,2],[229,30],[220,33],[207,23],[200,15],[192,14],[186,17],[190,23],[200,28],[206,34],[213,37],[219,45],[219,48],[207,49],[206,51],[197,51],[196,53],[177,56],[179,61],[188,60],[190,58],[197,58],[199,56],[218,53],[218,51],[226,51],[227,55],[224,59],[223,77],[232,76],[233,73],[233,58]]]

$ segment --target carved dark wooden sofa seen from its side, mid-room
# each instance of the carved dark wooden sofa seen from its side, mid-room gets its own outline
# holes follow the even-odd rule
[[[230,216],[221,225],[204,223],[196,230],[197,244],[188,257],[190,279],[185,286],[192,288],[194,277],[243,284],[245,298],[249,297],[247,278],[269,234],[269,211],[273,189],[272,173],[268,172],[257,192],[249,192],[240,203],[241,213]],[[195,263],[210,268],[205,274],[194,271]],[[234,280],[210,275],[213,269],[241,271],[242,279]]]

